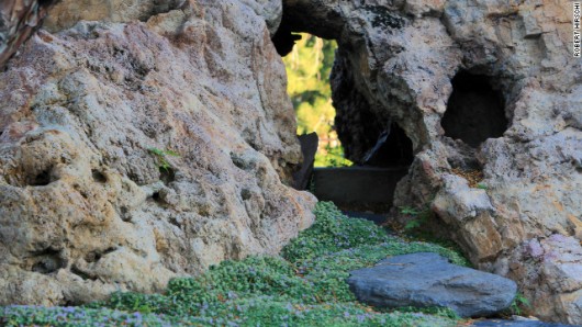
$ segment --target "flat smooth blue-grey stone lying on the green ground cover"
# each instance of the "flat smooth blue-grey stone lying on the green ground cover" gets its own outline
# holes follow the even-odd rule
[[[377,307],[448,307],[461,317],[507,308],[517,285],[510,279],[455,266],[437,253],[396,256],[350,272],[356,297]]]

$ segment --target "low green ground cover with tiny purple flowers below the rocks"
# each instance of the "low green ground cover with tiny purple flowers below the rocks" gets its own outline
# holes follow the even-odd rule
[[[332,203],[317,204],[315,224],[282,257],[225,261],[197,278],[172,280],[165,294],[114,293],[83,307],[8,306],[8,326],[455,326],[441,308],[376,311],[349,291],[349,271],[389,256],[438,252],[457,264],[455,251],[407,243],[373,223],[344,216]]]

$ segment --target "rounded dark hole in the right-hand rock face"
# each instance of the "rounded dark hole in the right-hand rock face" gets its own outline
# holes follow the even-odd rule
[[[478,147],[507,129],[503,94],[484,75],[459,71],[451,80],[452,93],[440,122],[445,136]]]

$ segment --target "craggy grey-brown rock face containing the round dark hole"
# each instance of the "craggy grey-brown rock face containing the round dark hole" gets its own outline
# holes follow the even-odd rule
[[[393,124],[411,138],[395,206],[430,203],[477,267],[514,279],[541,318],[582,324],[571,3],[288,0],[283,12],[287,30],[338,42],[332,88],[351,160]],[[482,172],[481,187],[459,169]],[[530,244],[552,255],[519,259]]]

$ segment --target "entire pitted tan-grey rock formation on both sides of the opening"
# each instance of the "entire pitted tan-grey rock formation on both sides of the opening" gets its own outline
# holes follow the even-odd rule
[[[582,324],[571,16],[558,0],[63,0],[54,34],[0,72],[0,302],[156,291],[307,226],[313,199],[286,187],[301,156],[270,42],[281,23],[282,43],[338,41],[350,159],[383,135],[407,164],[412,143],[395,205],[430,204],[531,311]]]

